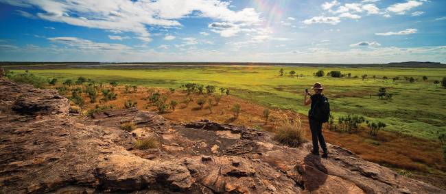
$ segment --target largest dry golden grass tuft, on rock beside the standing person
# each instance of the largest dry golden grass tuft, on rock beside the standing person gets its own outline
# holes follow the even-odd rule
[[[290,119],[287,115],[283,115],[279,120],[275,121],[276,135],[274,139],[283,145],[296,148],[305,142],[305,130],[301,127],[301,119],[294,117]]]

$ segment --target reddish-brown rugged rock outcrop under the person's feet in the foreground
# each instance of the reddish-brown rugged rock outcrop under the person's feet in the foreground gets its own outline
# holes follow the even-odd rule
[[[78,118],[54,90],[0,79],[0,91],[0,193],[446,193],[338,146],[324,159],[241,126],[136,109]],[[146,137],[159,149],[135,150]]]

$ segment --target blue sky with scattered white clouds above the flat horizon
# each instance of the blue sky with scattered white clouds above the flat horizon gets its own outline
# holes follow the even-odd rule
[[[0,0],[0,61],[446,63],[446,1]]]

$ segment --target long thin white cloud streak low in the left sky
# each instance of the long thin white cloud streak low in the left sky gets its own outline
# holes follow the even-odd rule
[[[132,49],[130,46],[126,46],[124,44],[100,43],[100,42],[93,42],[91,40],[85,40],[82,38],[75,38],[75,37],[55,37],[55,38],[48,38],[48,40],[51,42],[59,43],[59,44],[66,44],[66,45],[74,47],[74,48],[79,48],[80,50],[123,51],[123,50]]]

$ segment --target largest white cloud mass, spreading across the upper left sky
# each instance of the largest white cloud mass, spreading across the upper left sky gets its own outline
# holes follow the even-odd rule
[[[169,1],[69,1],[69,0],[0,0],[1,3],[35,7],[43,12],[36,16],[45,20],[95,29],[137,33],[139,40],[151,40],[149,26],[178,27],[180,18],[190,15],[207,17],[222,22],[255,25],[261,22],[253,8],[230,10],[230,2],[220,0]],[[32,16],[29,13],[19,12]]]

